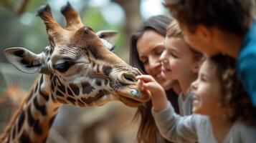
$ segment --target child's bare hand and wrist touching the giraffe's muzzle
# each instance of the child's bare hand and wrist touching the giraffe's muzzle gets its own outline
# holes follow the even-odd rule
[[[161,87],[161,85],[158,84],[155,79],[153,79],[153,77],[150,75],[141,75],[136,77],[136,79],[138,80],[138,89],[141,91],[151,91],[151,101],[155,111],[160,111],[168,106],[166,92],[164,91],[163,87]]]

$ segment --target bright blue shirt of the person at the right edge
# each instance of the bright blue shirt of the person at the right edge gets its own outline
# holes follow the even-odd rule
[[[240,80],[256,106],[256,21],[245,34],[237,59]]]

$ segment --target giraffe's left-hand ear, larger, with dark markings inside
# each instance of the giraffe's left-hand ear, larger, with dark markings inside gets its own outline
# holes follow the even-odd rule
[[[15,47],[4,50],[6,59],[20,71],[34,74],[41,69],[40,56],[28,49]]]

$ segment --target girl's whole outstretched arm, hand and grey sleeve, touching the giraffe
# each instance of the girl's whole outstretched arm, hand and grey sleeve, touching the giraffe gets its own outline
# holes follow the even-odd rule
[[[151,91],[153,104],[151,111],[162,136],[172,142],[196,142],[196,116],[180,117],[177,115],[163,87],[153,77],[142,75],[136,79],[138,79],[139,89]]]

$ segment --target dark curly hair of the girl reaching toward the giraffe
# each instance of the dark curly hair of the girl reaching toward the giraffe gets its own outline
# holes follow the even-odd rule
[[[217,65],[217,77],[223,93],[223,104],[227,107],[227,117],[231,122],[241,121],[255,124],[256,107],[245,92],[235,69],[236,59],[224,54],[217,54],[210,59]]]

